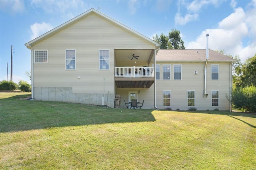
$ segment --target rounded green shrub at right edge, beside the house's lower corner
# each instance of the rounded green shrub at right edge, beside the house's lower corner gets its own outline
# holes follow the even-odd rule
[[[256,87],[244,87],[232,91],[231,101],[234,108],[243,111],[256,112]]]

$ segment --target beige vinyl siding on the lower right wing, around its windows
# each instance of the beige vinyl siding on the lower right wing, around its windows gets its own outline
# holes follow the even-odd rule
[[[208,97],[203,95],[204,92],[204,66],[205,62],[156,62],[160,64],[160,80],[156,80],[156,106],[159,109],[165,109],[163,106],[162,91],[171,91],[171,108],[172,110],[188,110],[187,91],[195,91],[195,106],[198,110],[229,110],[229,102],[226,94],[230,89],[230,63],[208,62],[207,65],[207,82],[206,92]],[[171,64],[173,71],[174,64],[182,64],[182,80],[174,80],[171,72],[171,80],[163,80],[162,65]],[[211,64],[219,64],[219,80],[211,80]],[[198,71],[195,75],[194,72]],[[219,106],[211,106],[211,91],[219,91]]]

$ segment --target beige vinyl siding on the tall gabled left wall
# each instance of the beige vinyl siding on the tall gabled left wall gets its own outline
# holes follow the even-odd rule
[[[114,49],[154,48],[154,44],[92,13],[32,46],[33,50],[48,50],[47,64],[34,63],[33,85],[72,87],[73,93],[103,93],[105,88],[114,93]],[[76,50],[76,70],[65,70],[66,49]],[[99,49],[109,49],[109,70],[99,70]]]

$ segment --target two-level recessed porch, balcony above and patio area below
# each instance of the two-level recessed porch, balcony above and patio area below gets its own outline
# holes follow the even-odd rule
[[[131,108],[132,99],[142,109],[154,108],[156,49],[115,49],[115,93],[121,96],[121,108]],[[137,57],[133,57],[137,56]],[[126,103],[126,104],[125,104]]]

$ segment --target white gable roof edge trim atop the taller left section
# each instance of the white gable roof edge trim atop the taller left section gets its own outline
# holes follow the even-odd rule
[[[44,40],[45,38],[48,38],[48,37],[51,36],[52,34],[55,34],[56,32],[59,32],[60,30],[63,30],[64,28],[70,26],[71,24],[74,24],[75,22],[79,21],[80,19],[82,19],[82,18],[84,18],[85,16],[90,15],[90,14],[92,14],[92,13],[98,14],[99,16],[105,18],[106,20],[108,20],[108,21],[110,21],[110,22],[112,22],[112,23],[114,23],[114,24],[116,24],[116,25],[118,25],[118,26],[124,28],[124,29],[127,30],[128,32],[131,32],[132,34],[135,34],[135,35],[139,36],[140,38],[142,38],[142,39],[144,39],[144,40],[146,40],[146,41],[148,41],[148,42],[150,42],[150,43],[155,44],[155,45],[156,45],[156,48],[159,48],[159,47],[160,47],[160,44],[159,44],[159,43],[157,43],[157,42],[151,40],[150,38],[148,38],[148,37],[146,37],[146,36],[144,36],[144,35],[142,35],[142,34],[136,32],[136,31],[134,31],[134,30],[132,30],[131,28],[125,26],[124,24],[121,24],[120,22],[118,22],[118,21],[116,21],[116,20],[110,18],[109,16],[106,16],[105,14],[103,14],[103,13],[101,13],[101,12],[95,10],[94,8],[91,8],[90,10],[88,10],[88,11],[86,11],[86,12],[80,14],[79,16],[76,16],[75,18],[73,18],[73,19],[71,19],[71,20],[65,22],[64,24],[61,24],[60,26],[58,26],[58,27],[56,27],[56,28],[54,28],[54,29],[52,29],[52,30],[46,32],[45,34],[39,36],[38,38],[35,38],[34,40],[31,40],[30,42],[25,43],[25,45],[26,45],[28,48],[31,48],[31,46],[34,45],[35,43],[40,42],[40,41]]]

